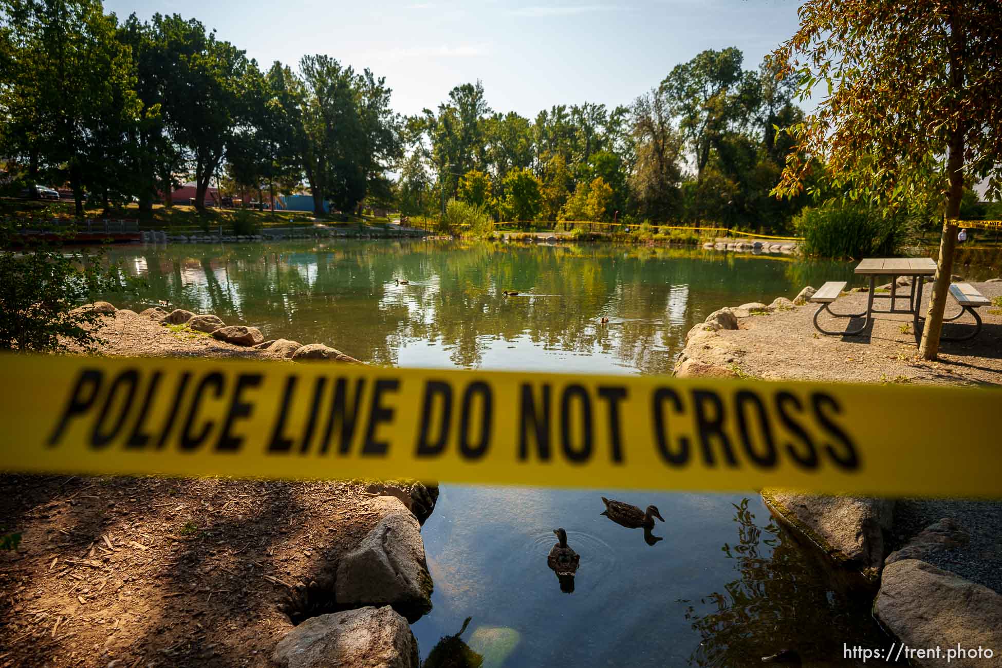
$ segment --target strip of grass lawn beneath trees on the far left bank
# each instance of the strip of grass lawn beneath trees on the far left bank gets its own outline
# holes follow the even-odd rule
[[[168,232],[183,234],[188,232],[216,232],[222,225],[224,234],[232,233],[232,221],[239,213],[252,218],[260,227],[312,227],[316,222],[327,225],[354,226],[362,223],[366,226],[382,228],[389,222],[387,218],[373,216],[349,215],[343,220],[341,215],[325,215],[314,220],[313,211],[255,211],[250,209],[217,209],[206,208],[199,212],[193,206],[175,204],[162,206],[154,204],[152,211],[140,211],[136,204],[115,209],[105,215],[101,207],[86,208],[84,217],[91,220],[103,218],[130,218],[139,220],[140,229],[165,229]],[[13,197],[0,198],[0,219],[30,220],[38,218],[72,219],[72,201],[38,201]]]

